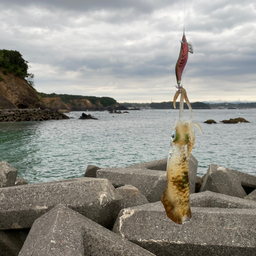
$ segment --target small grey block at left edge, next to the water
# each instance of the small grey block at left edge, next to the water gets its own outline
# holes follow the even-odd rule
[[[18,170],[5,161],[0,162],[0,188],[15,185]]]

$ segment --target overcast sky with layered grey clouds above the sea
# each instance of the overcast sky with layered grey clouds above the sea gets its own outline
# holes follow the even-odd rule
[[[0,0],[0,49],[29,62],[39,92],[191,102],[256,101],[255,0]]]

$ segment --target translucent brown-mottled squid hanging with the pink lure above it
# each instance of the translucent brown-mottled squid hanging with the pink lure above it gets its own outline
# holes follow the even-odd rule
[[[161,199],[167,216],[178,224],[183,224],[191,219],[188,160],[195,143],[193,126],[197,126],[202,133],[199,124],[192,121],[193,110],[186,90],[181,85],[181,76],[187,63],[188,52],[193,53],[192,45],[187,43],[185,33],[183,33],[180,55],[175,69],[178,90],[173,99],[173,105],[176,108],[176,100],[180,95],[180,113],[172,134],[167,162],[167,188]],[[182,120],[184,100],[191,111],[191,120],[188,121]]]

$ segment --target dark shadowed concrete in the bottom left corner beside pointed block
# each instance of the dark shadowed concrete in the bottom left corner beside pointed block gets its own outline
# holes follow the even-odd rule
[[[23,246],[29,230],[0,231],[0,255],[17,256]]]

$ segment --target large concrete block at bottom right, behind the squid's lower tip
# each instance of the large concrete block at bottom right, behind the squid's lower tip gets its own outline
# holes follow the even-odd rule
[[[120,211],[113,231],[156,255],[251,256],[256,251],[256,209],[192,207],[183,225],[161,202]]]

